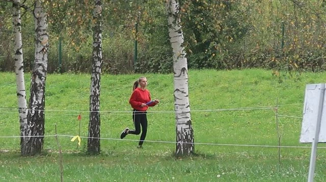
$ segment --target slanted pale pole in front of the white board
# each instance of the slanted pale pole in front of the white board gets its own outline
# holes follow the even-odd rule
[[[315,129],[315,138],[313,138],[312,147],[311,147],[308,182],[313,182],[313,180],[314,180],[315,165],[316,165],[316,153],[317,153],[317,145],[318,145],[318,139],[319,139],[322,106],[323,106],[323,101],[324,101],[325,84],[320,84],[320,90],[321,90],[321,92],[319,95],[319,106],[318,106],[318,116],[317,116],[317,123],[316,123],[316,129]]]

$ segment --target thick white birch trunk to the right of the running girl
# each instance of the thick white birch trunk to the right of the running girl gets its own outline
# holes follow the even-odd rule
[[[176,156],[194,153],[194,131],[190,116],[188,95],[188,69],[183,47],[183,32],[180,25],[178,1],[167,0],[166,11],[170,42],[173,49],[174,109],[176,118]]]

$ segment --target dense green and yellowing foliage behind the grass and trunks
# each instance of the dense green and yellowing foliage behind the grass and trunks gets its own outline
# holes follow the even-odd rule
[[[13,70],[10,3],[1,2],[0,70]],[[28,4],[26,4],[28,5]],[[324,1],[185,0],[180,1],[182,29],[190,69],[260,67],[288,71],[325,70]],[[50,53],[48,72],[88,72],[92,52],[92,1],[48,1]],[[102,72],[171,72],[165,1],[103,3]],[[25,70],[34,60],[34,27],[24,13]],[[135,30],[138,23],[138,31]],[[134,46],[138,45],[137,60]]]

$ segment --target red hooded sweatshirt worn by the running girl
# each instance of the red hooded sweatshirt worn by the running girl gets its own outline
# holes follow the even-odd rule
[[[147,111],[148,106],[156,105],[156,103],[153,102],[144,107],[141,106],[142,103],[147,103],[149,101],[151,101],[151,94],[149,93],[149,90],[142,90],[141,88],[134,89],[129,99],[131,107],[138,111]]]

